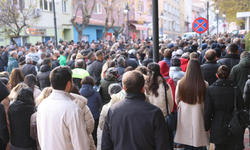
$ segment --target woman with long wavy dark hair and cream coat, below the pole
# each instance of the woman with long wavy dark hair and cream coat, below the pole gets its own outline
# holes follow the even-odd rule
[[[148,77],[145,80],[145,90],[146,95],[149,98],[151,104],[159,107],[164,115],[167,117],[167,107],[166,107],[166,97],[167,93],[168,99],[168,110],[169,113],[172,112],[174,107],[172,90],[169,84],[166,83],[166,80],[161,75],[160,66],[157,63],[148,64]],[[166,90],[166,92],[165,92]],[[170,148],[173,147],[173,131],[169,131],[169,139],[171,141]]]

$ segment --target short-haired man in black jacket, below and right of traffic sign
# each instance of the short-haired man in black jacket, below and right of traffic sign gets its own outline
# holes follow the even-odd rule
[[[201,71],[204,77],[204,80],[212,85],[216,80],[216,73],[220,64],[216,62],[216,52],[213,49],[209,49],[205,54],[206,62],[201,65]]]

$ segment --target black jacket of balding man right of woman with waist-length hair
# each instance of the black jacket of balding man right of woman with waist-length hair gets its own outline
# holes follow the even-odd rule
[[[220,64],[215,61],[206,61],[203,65],[201,65],[204,80],[207,81],[209,85],[212,85],[217,80],[215,74],[217,73],[219,67]]]

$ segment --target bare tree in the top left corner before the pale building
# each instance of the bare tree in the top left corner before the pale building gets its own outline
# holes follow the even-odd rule
[[[10,38],[16,44],[14,38],[20,37],[24,27],[31,27],[37,20],[34,18],[34,11],[37,7],[37,0],[23,1],[0,0],[0,34]]]

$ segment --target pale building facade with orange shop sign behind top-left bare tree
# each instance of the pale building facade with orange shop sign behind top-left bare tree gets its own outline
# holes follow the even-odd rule
[[[19,2],[18,0],[15,2]],[[35,44],[37,41],[47,42],[48,40],[55,40],[54,30],[54,13],[52,3],[47,0],[37,1],[37,8],[34,10],[34,14],[39,11],[36,19],[36,23],[30,28],[23,28],[20,37],[16,38],[16,43],[21,46],[26,43]],[[56,19],[57,19],[57,42],[60,40],[72,40],[73,28],[70,23],[71,14],[71,0],[62,0],[55,5]],[[10,39],[6,39],[4,35],[0,37],[0,45],[11,44]]]

